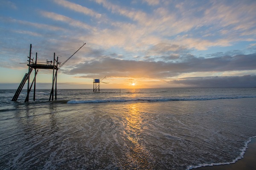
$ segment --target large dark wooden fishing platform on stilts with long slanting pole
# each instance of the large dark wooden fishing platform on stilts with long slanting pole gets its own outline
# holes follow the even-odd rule
[[[86,43],[84,43],[77,51],[79,51]],[[55,59],[55,53],[53,55],[53,63],[52,61],[48,61],[46,60],[46,64],[38,64],[37,63],[37,53],[35,54],[35,62],[34,62],[34,58],[31,59],[31,50],[32,50],[32,44],[30,44],[30,50],[29,50],[29,59],[27,60],[29,63],[27,64],[29,66],[29,71],[28,73],[25,74],[25,76],[23,77],[23,79],[20,82],[19,87],[17,88],[17,91],[15,93],[15,95],[12,98],[12,101],[17,101],[20,92],[22,90],[22,88],[24,87],[26,81],[28,81],[28,87],[27,87],[27,95],[26,95],[26,99],[24,102],[28,102],[29,101],[29,92],[31,91],[31,88],[34,84],[34,97],[33,100],[35,101],[35,87],[36,87],[36,76],[38,74],[38,70],[39,69],[48,69],[48,70],[52,70],[52,91],[50,93],[50,97],[49,97],[49,101],[53,100],[53,96],[54,96],[54,84],[55,84],[55,100],[57,100],[57,75],[58,75],[58,69],[61,68],[62,65],[64,65],[74,54],[76,54],[76,52],[71,55],[65,62],[63,62],[61,64],[61,62],[58,62],[58,57],[57,59]],[[61,65],[59,65],[61,64]],[[59,65],[59,66],[58,66]],[[30,80],[30,74],[32,73],[33,69],[35,69],[35,76],[34,79],[29,87],[29,80]]]

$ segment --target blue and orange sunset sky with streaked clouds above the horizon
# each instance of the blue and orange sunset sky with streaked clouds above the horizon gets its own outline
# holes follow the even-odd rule
[[[256,87],[256,0],[0,0],[0,89],[27,57],[58,88]],[[34,77],[32,73],[31,77]],[[37,88],[51,88],[39,70]],[[26,86],[25,86],[26,87]]]

